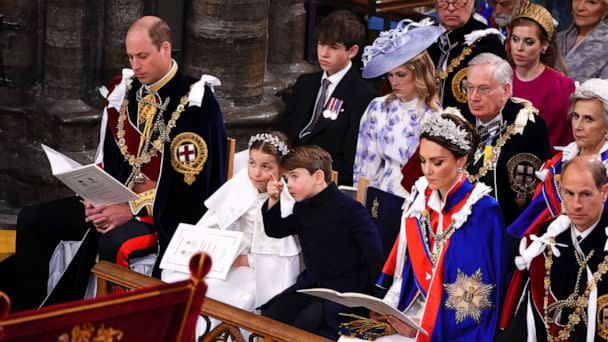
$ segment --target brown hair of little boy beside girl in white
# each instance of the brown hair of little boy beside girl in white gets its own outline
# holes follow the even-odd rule
[[[286,171],[297,168],[306,169],[310,174],[317,170],[325,174],[325,182],[331,182],[331,155],[319,146],[299,146],[281,159],[281,169]]]

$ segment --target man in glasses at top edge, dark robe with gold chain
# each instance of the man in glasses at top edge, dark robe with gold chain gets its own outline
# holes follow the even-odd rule
[[[475,0],[435,0],[439,25],[445,32],[427,50],[435,64],[439,99],[443,106],[458,107],[464,113],[466,95],[462,82],[467,63],[483,52],[504,57],[503,37],[473,18]],[[465,114],[466,115],[466,114]]]

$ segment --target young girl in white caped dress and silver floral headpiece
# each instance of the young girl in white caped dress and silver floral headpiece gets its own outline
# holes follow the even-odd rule
[[[247,169],[238,172],[205,201],[208,210],[196,226],[244,233],[240,255],[226,280],[205,280],[208,297],[254,311],[295,283],[300,273],[299,242],[294,237],[269,238],[264,232],[261,212],[268,199],[266,185],[271,175],[279,178],[279,160],[287,153],[287,137],[281,132],[252,136]],[[167,282],[188,276],[171,270],[162,272],[162,280]]]

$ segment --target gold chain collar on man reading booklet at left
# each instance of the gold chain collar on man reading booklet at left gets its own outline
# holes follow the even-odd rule
[[[129,151],[127,149],[124,130],[124,124],[127,120],[127,108],[129,106],[129,100],[127,99],[129,90],[131,90],[130,86],[127,89],[127,94],[125,94],[125,99],[123,100],[122,105],[120,106],[118,124],[116,125],[118,131],[116,133],[116,137],[118,138],[118,148],[120,149],[120,153],[122,153],[122,155],[125,157],[125,160],[133,168],[131,175],[129,176],[126,182],[127,187],[129,187],[129,189],[132,189],[136,182],[143,181],[143,179],[140,179],[143,176],[141,173],[141,167],[149,163],[150,160],[152,160],[152,158],[154,158],[158,154],[158,152],[162,153],[163,148],[165,146],[165,141],[169,141],[171,130],[175,127],[177,119],[179,119],[182,112],[186,109],[188,95],[186,94],[181,98],[177,109],[171,114],[171,119],[169,120],[169,123],[167,123],[166,127],[164,126],[164,122],[162,119],[162,112],[158,113],[157,124],[155,124],[155,128],[157,128],[159,131],[158,138],[156,138],[156,140],[151,143],[150,140],[152,137],[152,132],[146,134],[145,141],[140,142],[140,144],[143,143],[143,146],[140,145],[137,156],[134,156],[132,154],[129,154]],[[167,99],[167,103],[168,102],[169,101]],[[144,139],[143,135],[142,139]]]

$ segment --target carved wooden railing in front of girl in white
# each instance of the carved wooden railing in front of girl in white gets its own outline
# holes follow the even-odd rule
[[[113,286],[124,289],[138,289],[161,283],[156,278],[133,272],[116,264],[100,261],[93,267],[93,274],[97,277],[97,295],[104,295]],[[292,341],[329,341],[323,337],[291,327],[272,319],[262,317],[251,312],[235,308],[211,298],[205,298],[201,315],[207,320],[215,318],[222,322],[213,330],[207,330],[200,341],[243,341],[239,328],[250,331],[249,341],[255,337],[263,338],[264,342],[292,342]]]

